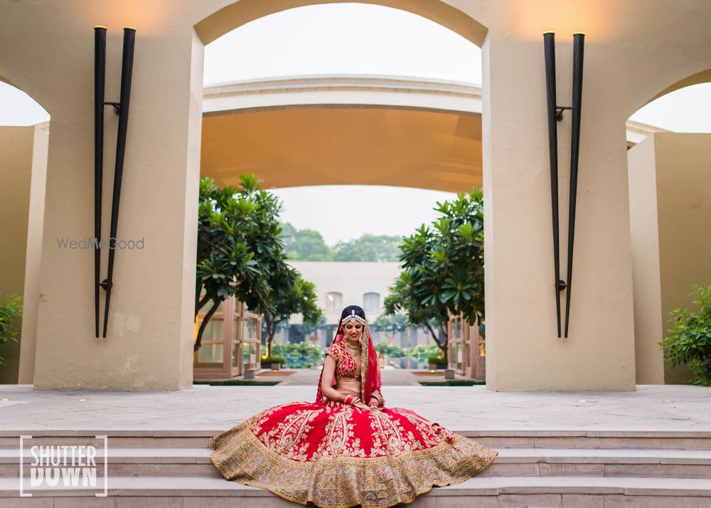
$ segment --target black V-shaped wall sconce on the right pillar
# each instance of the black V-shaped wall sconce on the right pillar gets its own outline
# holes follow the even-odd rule
[[[545,55],[545,91],[548,106],[548,149],[550,151],[550,196],[553,219],[553,261],[555,263],[555,309],[560,338],[560,293],[565,294],[565,338],[568,337],[570,322],[570,288],[573,270],[573,240],[575,236],[575,201],[577,197],[578,155],[580,150],[580,111],[582,105],[582,61],[585,34],[573,35],[573,90],[572,105],[558,106],[555,90],[555,33],[543,34],[543,53]],[[560,278],[560,250],[558,224],[558,129],[557,123],[563,119],[563,112],[571,110],[570,129],[570,206],[568,208],[568,258],[567,278]]]

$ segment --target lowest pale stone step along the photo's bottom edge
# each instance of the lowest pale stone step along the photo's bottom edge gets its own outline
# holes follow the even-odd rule
[[[32,490],[18,497],[16,479],[0,479],[4,508],[112,506],[294,507],[267,490],[206,477],[110,477],[108,499],[97,490]],[[41,499],[39,499],[41,498]],[[44,503],[43,501],[46,501]],[[105,501],[105,502],[102,502]],[[110,504],[109,504],[110,502]],[[640,477],[481,477],[419,496],[410,507],[711,507],[711,480]]]

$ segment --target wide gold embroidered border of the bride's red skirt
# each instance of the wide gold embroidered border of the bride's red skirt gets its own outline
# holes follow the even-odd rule
[[[298,504],[313,502],[321,508],[408,504],[432,487],[469,480],[498,455],[497,450],[454,433],[454,443],[445,440],[432,448],[397,456],[328,456],[298,462],[269,450],[249,425],[248,418],[210,438],[208,443],[216,450],[210,453],[215,467],[227,480],[267,489]],[[460,455],[462,450],[464,454]],[[321,488],[314,485],[313,478],[319,479]],[[393,489],[396,485],[401,488]]]

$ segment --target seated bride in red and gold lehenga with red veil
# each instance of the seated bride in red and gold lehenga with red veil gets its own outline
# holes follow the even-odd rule
[[[357,305],[343,309],[316,401],[257,413],[210,438],[227,480],[319,507],[391,507],[488,467],[498,451],[385,406],[378,356]]]

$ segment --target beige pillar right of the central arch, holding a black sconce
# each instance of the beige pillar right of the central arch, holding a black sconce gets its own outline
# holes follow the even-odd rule
[[[557,41],[559,105],[572,41]],[[570,332],[557,338],[542,37],[489,33],[483,46],[486,381],[496,391],[634,390],[624,121],[586,53]],[[561,266],[567,263],[570,115],[559,122]],[[562,293],[565,320],[565,292]]]

